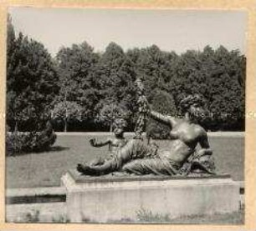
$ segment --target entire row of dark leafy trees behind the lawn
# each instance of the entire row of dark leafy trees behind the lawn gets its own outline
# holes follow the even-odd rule
[[[179,115],[187,94],[202,95],[210,130],[243,130],[246,58],[223,46],[178,55],[156,45],[126,52],[110,43],[104,53],[90,44],[60,48],[52,58],[42,43],[15,35],[8,19],[8,130],[42,130],[49,119],[56,130],[108,131],[123,117],[136,123],[136,78],[161,113]],[[158,125],[150,127],[158,129]]]

